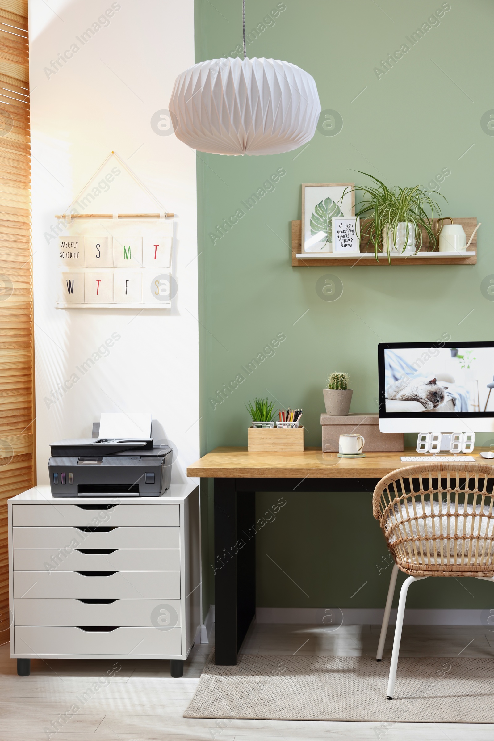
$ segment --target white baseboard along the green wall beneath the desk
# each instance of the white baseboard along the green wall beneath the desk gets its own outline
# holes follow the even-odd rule
[[[486,625],[486,610],[413,610],[406,609],[404,625]],[[384,608],[270,608],[256,609],[256,622],[298,623],[310,625],[380,625]],[[481,619],[482,618],[484,619]],[[390,625],[395,625],[396,610],[391,611]]]

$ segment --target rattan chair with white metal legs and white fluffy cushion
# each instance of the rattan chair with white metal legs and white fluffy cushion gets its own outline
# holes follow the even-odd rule
[[[400,592],[387,699],[393,699],[407,591],[427,576],[475,576],[494,581],[494,466],[434,463],[398,468],[373,496],[395,565],[376,659],[381,661],[398,569],[409,574]]]

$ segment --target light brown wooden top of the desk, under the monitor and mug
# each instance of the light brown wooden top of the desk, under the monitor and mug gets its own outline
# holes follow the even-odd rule
[[[478,462],[484,459],[475,448]],[[232,479],[292,479],[310,476],[314,479],[381,479],[396,468],[413,465],[401,462],[400,456],[417,455],[413,448],[403,453],[366,453],[365,458],[338,458],[336,453],[323,453],[321,448],[308,448],[301,453],[249,453],[247,448],[216,448],[187,468],[187,476]],[[447,453],[444,453],[447,455]],[[487,461],[486,461],[487,462]]]

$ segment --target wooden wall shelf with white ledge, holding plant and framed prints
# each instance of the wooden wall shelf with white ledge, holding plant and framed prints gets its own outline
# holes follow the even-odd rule
[[[361,224],[364,225],[368,222],[368,219],[363,219]],[[449,224],[449,222],[446,222]],[[433,221],[433,229],[436,230],[437,219]],[[475,217],[467,219],[453,219],[453,224],[461,224],[464,228],[465,234],[467,235],[467,242],[472,236],[473,230],[477,226],[477,219]],[[467,252],[458,253],[458,256],[452,255],[447,252],[430,252],[429,250],[429,238],[426,233],[422,232],[424,243],[421,247],[420,252],[416,255],[410,255],[408,257],[392,257],[391,265],[476,265],[477,264],[477,234],[473,236],[470,247]],[[332,265],[333,268],[337,266],[345,266],[347,268],[353,267],[353,265],[388,265],[387,255],[380,256],[379,260],[375,259],[374,250],[369,250],[369,241],[362,237],[361,241],[361,252],[353,255],[333,255],[328,254],[320,259],[313,257],[297,258],[297,255],[302,251],[302,222],[292,222],[292,265],[294,268],[313,268],[322,265]],[[372,245],[371,245],[372,247]]]

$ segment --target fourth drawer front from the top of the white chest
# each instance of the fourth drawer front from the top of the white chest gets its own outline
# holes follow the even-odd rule
[[[16,599],[180,599],[179,571],[117,571],[84,576],[77,571],[15,571]]]

